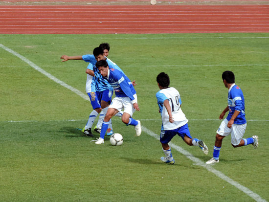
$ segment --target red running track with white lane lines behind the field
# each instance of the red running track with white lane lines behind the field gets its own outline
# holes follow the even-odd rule
[[[269,5],[0,6],[0,34],[269,32]]]

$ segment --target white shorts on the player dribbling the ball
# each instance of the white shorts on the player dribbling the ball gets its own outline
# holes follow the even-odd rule
[[[134,94],[134,100],[137,103],[137,96]],[[109,108],[116,109],[121,111],[124,108],[124,112],[133,116],[135,111],[134,105],[129,97],[115,97],[112,99],[112,103],[110,104]]]

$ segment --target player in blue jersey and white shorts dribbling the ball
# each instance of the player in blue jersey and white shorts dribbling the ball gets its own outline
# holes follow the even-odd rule
[[[136,136],[141,135],[140,121],[132,118],[134,111],[140,111],[137,104],[136,91],[130,79],[120,70],[110,68],[106,60],[99,60],[95,66],[100,74],[106,79],[115,90],[115,98],[109,106],[108,112],[104,118],[100,137],[95,144],[103,144],[107,128],[111,122],[111,118],[124,108],[122,122],[127,125],[134,126]]]

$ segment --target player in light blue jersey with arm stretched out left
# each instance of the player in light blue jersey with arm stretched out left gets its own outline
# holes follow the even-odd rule
[[[115,63],[113,63],[110,59],[106,58],[104,56],[103,48],[96,47],[93,50],[93,55],[83,55],[83,56],[67,56],[62,55],[61,59],[64,59],[62,62],[65,62],[67,60],[84,60],[85,62],[89,62],[89,66],[87,67],[86,73],[93,76],[94,83],[95,83],[95,91],[88,92],[88,95],[90,97],[91,105],[93,107],[93,111],[90,113],[89,120],[87,122],[87,125],[84,129],[84,134],[88,136],[93,136],[91,134],[91,126],[95,120],[95,118],[98,116],[98,114],[101,112],[102,114],[106,114],[108,110],[108,106],[112,99],[112,92],[113,88],[109,85],[107,81],[105,81],[102,76],[100,75],[98,69],[95,67],[95,63],[99,60],[107,60],[108,64],[112,68],[120,69]],[[104,118],[104,115],[101,118]],[[116,116],[122,116],[122,112],[119,112],[116,114]],[[112,124],[109,126],[110,130],[108,130],[107,135],[112,135]]]

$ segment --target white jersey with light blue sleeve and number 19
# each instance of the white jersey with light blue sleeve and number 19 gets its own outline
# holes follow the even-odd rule
[[[186,123],[188,123],[188,119],[186,118],[185,114],[182,112],[180,105],[181,105],[181,99],[179,95],[179,91],[173,87],[159,90],[156,93],[158,106],[161,113],[161,119],[162,119],[162,130],[169,131],[177,129],[181,126],[184,126]],[[172,116],[174,122],[169,122],[169,115],[168,112],[163,105],[163,102],[165,100],[169,100],[169,104],[172,111]]]

